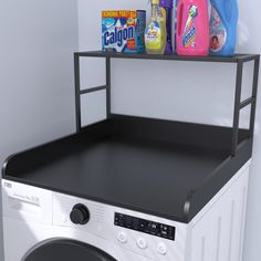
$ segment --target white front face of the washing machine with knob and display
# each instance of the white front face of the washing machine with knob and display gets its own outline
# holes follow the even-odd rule
[[[181,223],[9,180],[2,190],[6,261],[180,260],[185,248]]]

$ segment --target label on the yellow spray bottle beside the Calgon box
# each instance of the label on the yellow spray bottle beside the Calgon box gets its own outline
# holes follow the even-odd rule
[[[158,50],[161,46],[161,32],[157,21],[152,21],[145,31],[145,44],[147,49]]]

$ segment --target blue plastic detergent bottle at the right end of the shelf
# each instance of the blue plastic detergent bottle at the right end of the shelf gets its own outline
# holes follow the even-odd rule
[[[210,0],[210,53],[231,56],[234,54],[238,31],[237,0]]]

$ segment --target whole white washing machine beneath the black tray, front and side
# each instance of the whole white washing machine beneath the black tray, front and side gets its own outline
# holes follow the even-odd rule
[[[240,261],[248,176],[189,223],[3,179],[6,261]]]

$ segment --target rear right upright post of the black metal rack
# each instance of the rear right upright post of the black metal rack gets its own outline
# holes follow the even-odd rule
[[[252,104],[251,104],[251,115],[250,115],[250,137],[251,138],[253,138],[253,135],[254,135],[254,118],[255,118],[255,107],[257,107],[257,97],[258,97],[259,66],[260,66],[260,55],[258,55],[254,59],[254,67],[253,67],[253,88],[252,88]]]

